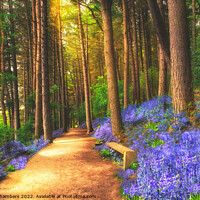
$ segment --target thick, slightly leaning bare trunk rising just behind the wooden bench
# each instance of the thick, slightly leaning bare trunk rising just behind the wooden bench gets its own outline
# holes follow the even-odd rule
[[[123,137],[122,118],[119,103],[117,73],[115,68],[114,41],[111,6],[112,0],[101,0],[104,26],[104,54],[107,68],[108,98],[110,104],[111,126],[113,135]]]

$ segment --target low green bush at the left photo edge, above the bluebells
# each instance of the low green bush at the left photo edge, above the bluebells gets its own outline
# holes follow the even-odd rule
[[[14,140],[14,130],[9,126],[3,126],[0,123],[0,146],[3,146],[7,142],[11,142]]]

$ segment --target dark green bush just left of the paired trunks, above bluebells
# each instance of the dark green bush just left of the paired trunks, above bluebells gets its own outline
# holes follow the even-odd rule
[[[29,120],[23,126],[16,130],[17,141],[20,141],[25,146],[30,144],[30,141],[34,139],[34,124],[33,121]]]

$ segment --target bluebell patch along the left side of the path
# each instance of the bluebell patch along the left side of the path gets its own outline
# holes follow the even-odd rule
[[[58,129],[53,133],[53,139],[63,134],[63,129]],[[15,170],[24,169],[28,160],[39,150],[47,146],[48,140],[44,140],[44,136],[31,141],[29,146],[24,146],[20,141],[12,141],[0,147],[0,179],[5,177],[8,172],[6,168],[14,166]],[[2,161],[7,161],[2,164]]]

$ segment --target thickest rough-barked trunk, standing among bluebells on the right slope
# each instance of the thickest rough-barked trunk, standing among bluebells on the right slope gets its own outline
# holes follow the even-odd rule
[[[184,0],[168,0],[172,102],[175,113],[193,109],[190,40]],[[190,104],[190,106],[189,106]]]

